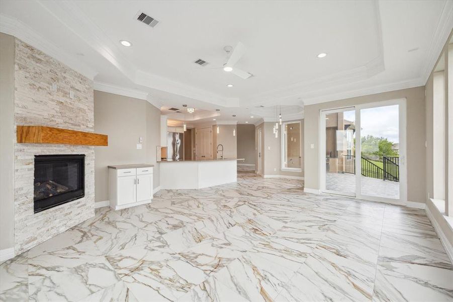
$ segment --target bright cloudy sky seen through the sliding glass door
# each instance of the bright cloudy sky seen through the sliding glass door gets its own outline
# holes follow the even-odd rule
[[[355,112],[344,112],[344,118],[355,121]],[[360,110],[361,136],[385,137],[393,143],[399,142],[398,105]]]

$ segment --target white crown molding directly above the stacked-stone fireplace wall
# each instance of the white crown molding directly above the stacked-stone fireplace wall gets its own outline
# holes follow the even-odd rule
[[[14,36],[30,44],[90,80],[93,80],[95,75],[98,74],[96,70],[81,63],[78,58],[66,53],[60,47],[45,39],[34,29],[16,18],[0,14],[0,32]]]

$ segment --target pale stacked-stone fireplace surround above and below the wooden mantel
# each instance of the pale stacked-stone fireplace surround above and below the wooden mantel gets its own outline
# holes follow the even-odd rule
[[[70,97],[70,91],[73,92],[73,98]],[[42,125],[85,132],[94,131],[93,81],[19,39],[16,39],[14,102],[16,125]],[[48,170],[47,175],[35,170],[36,165],[40,164],[40,159],[55,155],[84,155],[81,172],[83,175],[78,176],[83,177],[83,194],[80,194],[79,188],[77,189],[81,179],[66,180],[69,174],[57,175],[58,165],[53,167],[55,170]],[[66,166],[69,169],[68,173],[77,169],[74,165],[69,166]],[[60,179],[56,181],[57,178],[53,178],[52,173],[56,173],[54,176]],[[43,180],[38,185],[41,186],[38,188],[40,191],[38,194],[42,194],[39,199],[49,201],[49,197],[55,195],[60,197],[54,200],[56,202],[52,206],[43,202],[41,209],[43,207],[46,209],[36,211],[35,181],[42,176],[49,179]],[[93,146],[15,143],[14,181],[16,255],[94,216]],[[73,186],[75,190],[72,190]],[[65,195],[67,193],[69,195],[74,193],[74,196]],[[64,199],[68,197],[70,202],[59,200],[63,197]]]

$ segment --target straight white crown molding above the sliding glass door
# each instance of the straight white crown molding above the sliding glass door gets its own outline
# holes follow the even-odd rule
[[[377,94],[377,93],[384,93],[384,92],[390,92],[390,91],[395,91],[395,90],[420,87],[420,86],[424,86],[424,85],[425,84],[424,84],[423,80],[421,80],[420,78],[417,78],[417,79],[401,81],[401,82],[397,82],[397,83],[390,83],[390,84],[383,84],[383,85],[378,85],[378,86],[367,87],[364,89],[350,90],[350,91],[346,91],[346,92],[326,94],[326,95],[311,97],[311,98],[310,97],[304,98],[304,105],[307,106],[307,105],[313,105],[313,104],[320,104],[320,103],[325,103],[325,102],[367,96],[367,95],[372,95],[372,94]],[[313,94],[316,94],[316,92],[314,92]]]

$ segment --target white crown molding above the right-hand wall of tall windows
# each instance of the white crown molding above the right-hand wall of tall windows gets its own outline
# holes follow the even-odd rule
[[[445,1],[445,4],[440,14],[439,22],[432,36],[432,41],[429,44],[430,47],[427,51],[427,60],[425,60],[425,66],[422,68],[421,79],[423,85],[428,81],[431,75],[432,69],[442,52],[443,46],[445,45],[448,37],[453,29],[453,1]]]

